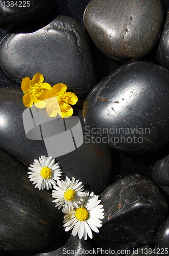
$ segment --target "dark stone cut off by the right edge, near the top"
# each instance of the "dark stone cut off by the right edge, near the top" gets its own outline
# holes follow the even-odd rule
[[[169,11],[167,11],[165,26],[159,41],[156,58],[164,68],[169,69]]]

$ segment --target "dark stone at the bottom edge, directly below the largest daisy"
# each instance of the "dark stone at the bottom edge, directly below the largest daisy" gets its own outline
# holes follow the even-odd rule
[[[89,251],[90,253],[88,253]],[[66,242],[63,241],[63,245],[61,245],[61,242],[59,242],[47,250],[41,250],[41,252],[36,253],[35,256],[94,255],[92,252],[93,248],[88,240],[79,240],[78,236],[70,236]]]

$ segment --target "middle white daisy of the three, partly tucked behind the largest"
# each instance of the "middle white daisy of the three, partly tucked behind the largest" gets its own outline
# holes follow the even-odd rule
[[[53,198],[56,198],[52,201],[57,204],[55,207],[59,206],[58,209],[60,209],[63,206],[63,210],[73,210],[74,206],[78,207],[82,198],[86,195],[85,192],[82,192],[84,188],[81,183],[75,180],[74,177],[72,180],[66,177],[65,181],[58,181],[58,186],[53,186],[55,190],[52,190],[51,194]]]

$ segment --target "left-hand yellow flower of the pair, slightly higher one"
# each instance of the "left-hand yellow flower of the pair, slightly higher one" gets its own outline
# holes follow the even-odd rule
[[[22,101],[27,108],[31,108],[33,104],[37,104],[42,101],[41,94],[46,90],[51,90],[49,83],[44,82],[44,77],[40,73],[36,73],[31,80],[29,77],[24,77],[21,82],[21,89],[25,93]],[[46,104],[44,101],[41,103],[41,108],[45,108]],[[38,107],[40,108],[40,107]]]

